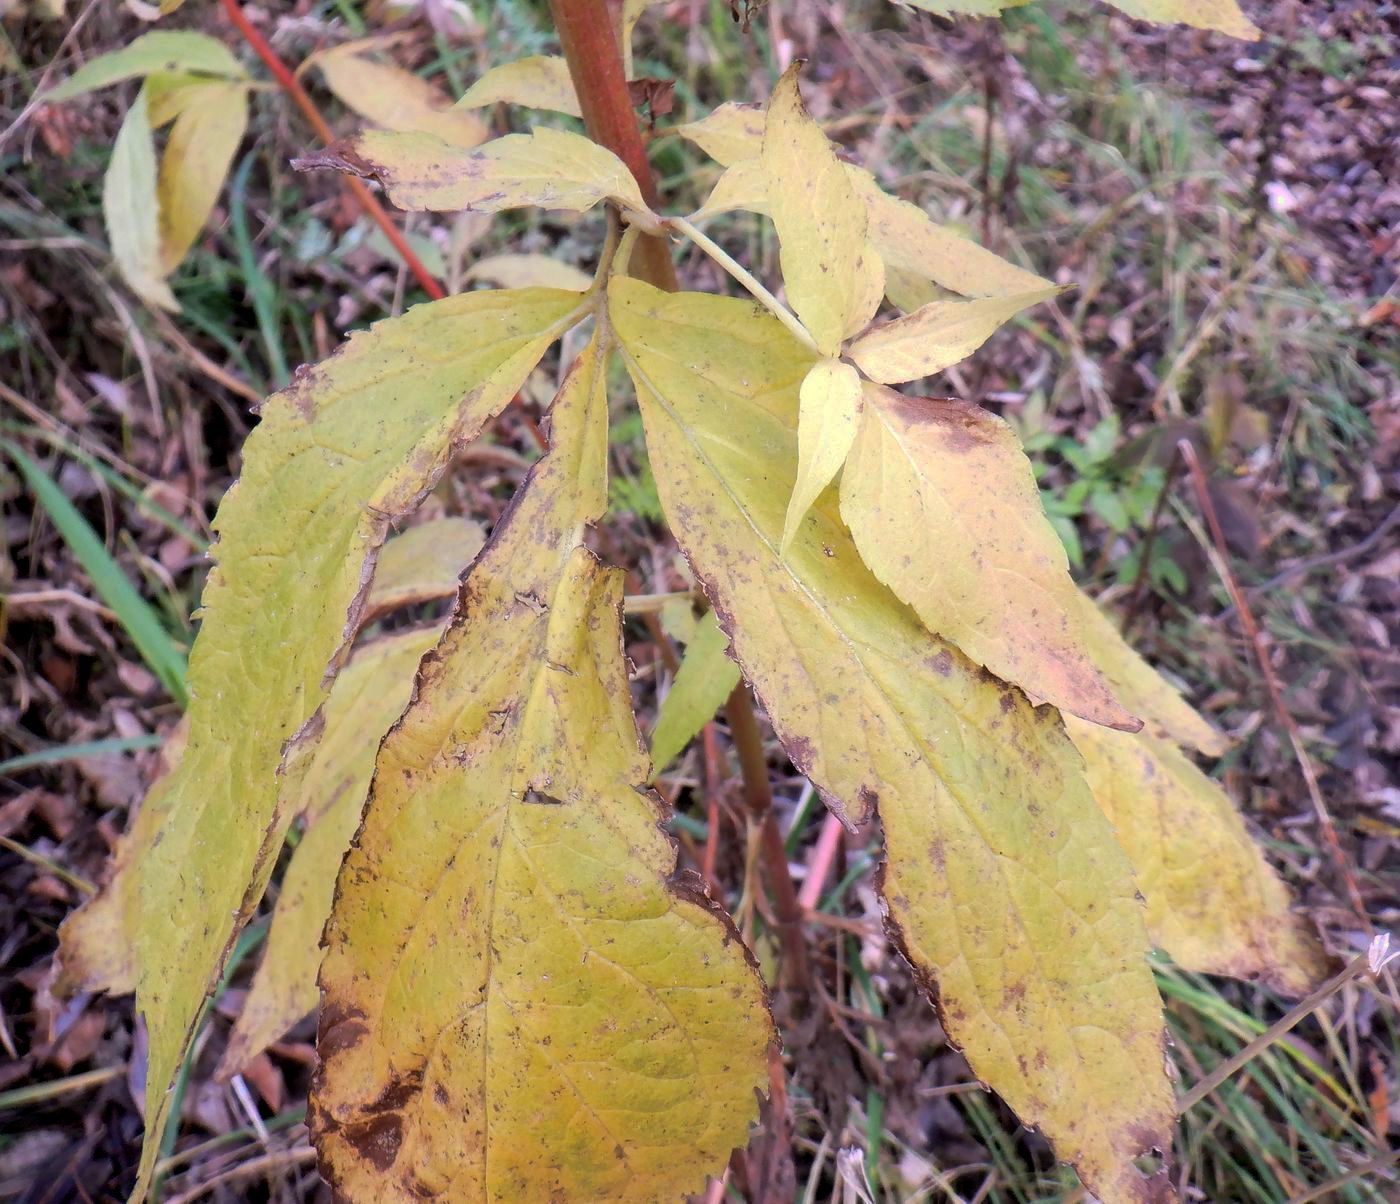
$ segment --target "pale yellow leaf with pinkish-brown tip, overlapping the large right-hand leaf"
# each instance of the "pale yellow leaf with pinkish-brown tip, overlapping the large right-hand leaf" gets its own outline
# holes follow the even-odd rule
[[[1001,419],[867,385],[841,517],[865,563],[930,631],[1036,701],[1140,727],[1079,636],[1064,545]]]

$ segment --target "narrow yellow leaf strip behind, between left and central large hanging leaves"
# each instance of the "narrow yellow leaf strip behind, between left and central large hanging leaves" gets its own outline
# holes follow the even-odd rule
[[[399,542],[385,545],[385,560]],[[389,725],[409,704],[419,661],[441,634],[441,627],[430,627],[360,648],[326,697],[321,741],[283,776],[283,805],[301,816],[307,830],[281,881],[267,945],[228,1036],[220,1077],[237,1074],[315,1009],[321,930],[330,916],[340,861],[360,826],[374,756]]]

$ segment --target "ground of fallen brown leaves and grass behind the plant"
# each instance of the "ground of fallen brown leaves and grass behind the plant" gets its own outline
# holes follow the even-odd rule
[[[363,18],[349,3],[290,7],[251,11],[293,62],[382,25],[382,6]],[[396,18],[398,62],[456,94],[489,63],[553,49],[543,6],[473,7],[477,20],[463,24],[451,6],[409,6]],[[886,188],[1074,286],[934,384],[1016,426],[1079,580],[1133,613],[1135,643],[1233,736],[1212,769],[1345,959],[1369,935],[1354,895],[1376,930],[1400,914],[1400,11],[1364,0],[1245,7],[1264,29],[1257,43],[1077,3],[1015,10],[995,25],[883,0],[773,0],[743,31],[728,4],[669,0],[638,29],[638,70],[675,80],[676,112],[657,119],[654,140],[675,211],[694,209],[715,171],[662,140],[665,126],[718,101],[762,101],[777,70],[805,56],[813,113]],[[84,567],[71,533],[6,459],[0,1198],[116,1200],[140,1135],[130,1000],[55,1000],[50,963],[59,923],[101,881],[179,708],[143,661],[112,578],[188,643],[209,521],[237,473],[252,405],[288,367],[419,294],[335,178],[288,168],[314,137],[269,88],[253,99],[246,158],[176,276],[182,312],[141,307],[112,272],[101,220],[102,171],[133,91],[29,102],[41,83],[144,27],[125,6],[70,3],[57,20],[48,8],[0,4],[10,59],[0,437],[56,482],[106,554]],[[190,0],[172,21],[214,34],[266,77],[217,6]],[[311,85],[337,132],[353,130],[356,119]],[[505,249],[588,270],[596,225],[508,214],[409,228],[461,281],[473,259]],[[763,223],[715,231],[773,279]],[[680,273],[727,288],[708,260],[687,259]],[[428,512],[487,526],[498,517],[538,455],[546,375],[462,458]],[[687,588],[623,406],[612,438],[609,557],[633,570],[630,592]],[[1179,468],[1182,440],[1208,476],[1205,510]],[[657,630],[629,627],[644,729],[669,672]],[[1260,657],[1281,683],[1277,701]],[[722,724],[720,735],[724,753]],[[819,806],[771,736],[767,753],[801,878]],[[734,902],[745,862],[728,766],[722,756],[707,766],[697,748],[662,791],[683,816],[685,864],[699,854],[707,783],[718,791],[718,813],[735,820],[725,819],[717,867]],[[969,1081],[888,948],[876,861],[876,846],[847,841],[811,925],[840,1036],[790,1042],[798,1190],[827,1198],[836,1151],[858,1147],[879,1200],[1077,1198],[1044,1142]],[[760,941],[759,953],[771,949]],[[301,1123],[312,1025],[232,1086],[211,1075],[245,983],[242,970],[207,1026],[165,1149],[165,1198],[328,1198]],[[1159,983],[1189,1081],[1288,1007],[1169,966]],[[1191,1184],[1186,1198],[1394,1198],[1397,1061],[1393,981],[1344,988],[1187,1114],[1173,1170]],[[735,1165],[731,1189],[760,1173],[763,1149]]]

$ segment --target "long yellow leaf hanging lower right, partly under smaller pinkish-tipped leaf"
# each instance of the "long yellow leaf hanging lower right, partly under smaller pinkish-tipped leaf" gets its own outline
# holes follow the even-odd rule
[[[974,1074],[1105,1201],[1170,1148],[1161,1004],[1127,858],[1051,710],[924,631],[819,501],[787,557],[808,357],[720,297],[613,280],[672,529],[794,764],[878,804],[890,923]],[[1162,1186],[1162,1184],[1155,1184]]]

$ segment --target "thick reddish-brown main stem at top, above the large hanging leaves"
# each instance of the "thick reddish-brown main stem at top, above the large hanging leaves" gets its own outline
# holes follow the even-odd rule
[[[608,0],[550,0],[549,8],[588,136],[627,164],[643,199],[657,209],[657,181],[627,91],[617,21]],[[666,293],[676,291],[676,269],[665,238],[648,234],[638,242],[636,274]]]

